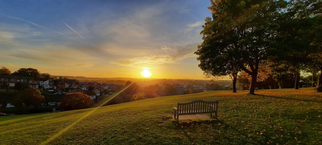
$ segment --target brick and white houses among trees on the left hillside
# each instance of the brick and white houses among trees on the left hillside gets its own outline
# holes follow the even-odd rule
[[[0,92],[16,92],[28,87],[34,87],[45,94],[52,95],[49,98],[45,96],[46,102],[43,103],[43,105],[50,106],[60,105],[60,101],[64,94],[76,91],[82,91],[89,95],[94,101],[97,101],[98,96],[105,96],[104,92],[120,90],[123,85],[79,82],[73,79],[45,79],[15,75],[0,76]],[[6,107],[14,106],[8,103]]]

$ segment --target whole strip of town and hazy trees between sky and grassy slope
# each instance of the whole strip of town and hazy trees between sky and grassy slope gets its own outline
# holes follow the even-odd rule
[[[45,101],[42,103],[42,106],[57,106],[59,107],[61,100],[64,94],[71,92],[84,92],[89,95],[95,103],[99,103],[99,101],[104,100],[105,97],[113,94],[114,92],[118,92],[126,84],[114,84],[114,83],[100,83],[95,81],[79,81],[76,79],[68,79],[62,76],[50,76],[47,73],[45,76],[34,77],[34,76],[19,76],[19,75],[1,75],[0,76],[0,93],[2,97],[6,99],[1,100],[0,106],[2,108],[10,108],[14,107],[11,103],[13,101],[16,93],[21,90],[25,90],[28,87],[34,87],[42,92],[45,96]],[[160,81],[161,80],[161,81]],[[166,96],[166,95],[180,95],[180,94],[189,94],[189,93],[198,93],[198,92],[206,92],[210,90],[229,90],[231,85],[229,84],[231,81],[222,80],[219,81],[221,84],[217,83],[206,83],[211,81],[192,81],[192,80],[153,80],[150,83],[156,83],[155,81],[159,81],[162,84],[154,84],[147,85],[141,87],[141,89],[136,89],[134,94],[130,94],[130,96],[135,95],[137,92],[143,92],[145,98],[154,98],[157,96]],[[122,81],[118,80],[118,82],[122,83]],[[130,81],[127,81],[127,83]],[[168,83],[165,83],[168,82]],[[178,82],[181,82],[178,83]],[[140,83],[140,82],[137,82]],[[142,82],[141,82],[142,83]],[[147,84],[145,82],[145,84]],[[155,88],[155,92],[150,92],[151,87]],[[137,88],[140,88],[137,86]],[[153,89],[152,89],[153,90]],[[159,92],[158,92],[158,91]],[[131,92],[133,93],[133,91]],[[123,94],[124,95],[124,94]],[[128,95],[128,94],[127,94]],[[12,96],[12,97],[10,97]],[[118,104],[122,102],[131,101],[131,99],[123,99],[121,101],[111,101],[110,104]]]

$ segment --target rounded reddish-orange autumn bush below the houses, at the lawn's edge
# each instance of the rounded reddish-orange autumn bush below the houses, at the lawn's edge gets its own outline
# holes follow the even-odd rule
[[[65,95],[60,107],[64,110],[77,110],[90,108],[93,105],[94,101],[89,95],[83,92],[73,92]]]

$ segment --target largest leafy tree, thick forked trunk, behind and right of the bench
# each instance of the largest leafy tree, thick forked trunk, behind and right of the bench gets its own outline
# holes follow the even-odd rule
[[[199,67],[211,65],[212,62],[208,60],[213,58],[230,60],[226,63],[236,64],[238,67],[234,67],[235,70],[243,70],[251,75],[249,93],[254,94],[259,63],[274,55],[270,53],[270,41],[279,27],[277,18],[286,2],[211,0],[211,4],[212,18],[205,19],[201,32],[204,42],[196,52],[201,62]],[[224,69],[222,73],[226,71]]]

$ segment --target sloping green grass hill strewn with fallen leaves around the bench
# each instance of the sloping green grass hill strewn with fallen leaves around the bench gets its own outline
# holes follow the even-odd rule
[[[0,144],[321,144],[312,89],[165,96],[59,113],[0,117]],[[219,101],[218,120],[172,119],[177,102]]]

